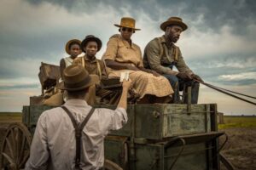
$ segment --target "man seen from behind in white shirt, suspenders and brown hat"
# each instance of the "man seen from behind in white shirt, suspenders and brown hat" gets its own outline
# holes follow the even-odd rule
[[[67,91],[67,102],[39,117],[26,170],[102,169],[104,137],[127,122],[131,81],[123,82],[115,111],[87,105],[84,96],[96,81],[82,65],[70,65],[64,70],[60,88]]]

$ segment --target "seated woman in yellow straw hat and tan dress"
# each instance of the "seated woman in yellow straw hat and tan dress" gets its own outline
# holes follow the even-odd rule
[[[140,30],[135,28],[135,20],[124,17],[120,25],[114,26],[119,27],[120,34],[110,37],[103,54],[108,66],[108,77],[120,77],[121,72],[129,71],[131,86],[139,95],[140,103],[166,102],[173,93],[170,83],[155,71],[143,67],[141,49],[131,41],[132,34]]]

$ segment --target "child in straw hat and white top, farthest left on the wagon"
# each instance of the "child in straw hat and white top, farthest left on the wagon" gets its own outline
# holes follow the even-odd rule
[[[69,40],[66,43],[66,52],[69,54],[69,57],[62,58],[60,61],[60,71],[61,71],[61,79],[63,79],[63,71],[68,65],[72,65],[73,60],[78,57],[79,54],[82,53],[80,49],[81,41],[78,39]]]

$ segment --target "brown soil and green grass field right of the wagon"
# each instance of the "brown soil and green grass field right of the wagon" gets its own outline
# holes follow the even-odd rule
[[[224,131],[229,140],[221,152],[237,170],[255,170],[256,116],[224,116],[224,122],[219,130]],[[219,143],[223,142],[221,138]]]

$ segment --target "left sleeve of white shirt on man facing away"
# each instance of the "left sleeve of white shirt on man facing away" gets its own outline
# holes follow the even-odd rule
[[[30,157],[26,161],[26,170],[44,170],[48,167],[49,150],[47,144],[46,114],[39,117],[36,131],[32,139]]]

